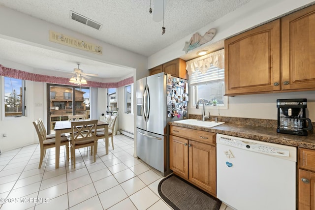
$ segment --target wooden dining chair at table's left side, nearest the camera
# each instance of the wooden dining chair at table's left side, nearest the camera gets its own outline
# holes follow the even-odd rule
[[[56,147],[56,138],[47,139],[44,130],[42,129],[42,126],[40,125],[40,122],[38,120],[33,121],[33,125],[35,126],[39,140],[40,159],[38,168],[41,168],[43,159],[46,155],[46,149]],[[60,146],[65,146],[67,161],[69,161],[69,140],[67,137],[65,136],[61,137]]]

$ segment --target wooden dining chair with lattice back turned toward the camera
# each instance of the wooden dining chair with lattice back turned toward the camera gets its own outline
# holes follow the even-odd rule
[[[91,155],[96,161],[96,136],[93,130],[96,129],[97,120],[71,121],[70,148],[73,167],[75,168],[75,149],[91,147]],[[94,151],[93,151],[94,149]]]

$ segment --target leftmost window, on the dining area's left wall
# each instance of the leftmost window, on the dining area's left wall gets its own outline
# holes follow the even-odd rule
[[[25,116],[25,81],[4,77],[4,116]]]

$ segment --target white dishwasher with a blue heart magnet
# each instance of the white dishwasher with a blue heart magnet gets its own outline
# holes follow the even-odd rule
[[[296,148],[217,134],[217,197],[236,210],[296,210]]]

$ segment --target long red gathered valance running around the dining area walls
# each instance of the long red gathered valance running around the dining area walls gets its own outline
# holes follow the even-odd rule
[[[69,78],[34,74],[34,73],[26,72],[26,71],[13,69],[13,68],[7,68],[1,64],[0,64],[0,76],[12,77],[12,78],[21,79],[21,80],[30,80],[33,82],[44,82],[44,83],[73,86],[72,83],[69,83]],[[129,84],[132,84],[132,83],[133,83],[133,77],[129,77],[116,83],[101,83],[101,82],[95,82],[95,81],[88,81],[88,84],[82,85],[82,86],[92,87],[92,88],[120,88]]]

